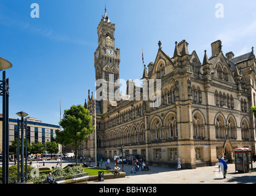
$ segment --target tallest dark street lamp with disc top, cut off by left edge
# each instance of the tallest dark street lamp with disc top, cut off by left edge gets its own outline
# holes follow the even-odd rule
[[[0,95],[2,96],[2,184],[9,181],[9,78],[6,78],[6,69],[12,64],[0,57],[0,70],[2,80],[0,80]]]

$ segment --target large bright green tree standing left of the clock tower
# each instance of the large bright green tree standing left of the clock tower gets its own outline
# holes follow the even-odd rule
[[[92,116],[82,105],[72,105],[64,111],[60,126],[63,131],[56,130],[56,141],[63,146],[71,145],[75,149],[76,165],[78,165],[78,147],[94,132]]]

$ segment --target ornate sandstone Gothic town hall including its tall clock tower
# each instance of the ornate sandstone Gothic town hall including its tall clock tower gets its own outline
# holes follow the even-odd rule
[[[114,30],[105,11],[97,28],[94,66],[96,80],[105,79],[108,87],[110,75],[119,79],[120,49],[115,49]],[[140,154],[151,165],[176,167],[179,157],[183,168],[196,168],[215,165],[219,154],[233,159],[235,148],[255,152],[255,120],[250,112],[256,105],[254,48],[241,56],[224,55],[217,40],[211,44],[210,58],[204,51],[201,62],[196,51],[189,53],[186,40],[175,42],[173,56],[162,51],[160,41],[158,45],[142,79],[161,78],[161,105],[150,107],[151,101],[142,99],[142,86],[133,80],[127,86],[134,85],[140,100],[129,100],[129,89],[122,100],[96,100],[97,154],[113,160],[122,146],[124,154]],[[89,93],[84,104],[93,121],[94,99]],[[95,157],[94,134],[80,146],[79,156]]]

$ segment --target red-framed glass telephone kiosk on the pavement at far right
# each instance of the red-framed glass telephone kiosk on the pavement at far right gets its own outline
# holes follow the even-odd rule
[[[236,148],[234,149],[235,170],[239,173],[252,171],[252,149]]]

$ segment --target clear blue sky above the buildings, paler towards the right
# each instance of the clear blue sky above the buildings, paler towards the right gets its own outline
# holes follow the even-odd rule
[[[33,3],[39,5],[39,18],[31,18]],[[221,18],[215,14],[220,13],[218,3],[223,6]],[[162,50],[173,56],[175,41],[185,39],[201,62],[204,50],[211,56],[210,43],[218,39],[223,52],[235,56],[256,47],[255,0],[0,0],[0,56],[13,65],[6,71],[10,118],[23,110],[58,124],[60,99],[63,115],[71,105],[84,104],[88,89],[95,91],[94,52],[105,4],[116,24],[124,80],[142,77],[142,48],[148,65],[156,58],[159,40]]]

